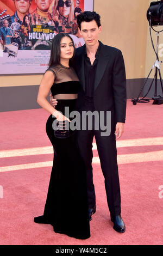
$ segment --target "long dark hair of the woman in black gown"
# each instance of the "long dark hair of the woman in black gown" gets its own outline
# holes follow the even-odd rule
[[[73,42],[73,39],[71,38],[70,35],[66,34],[66,33],[59,33],[57,35],[54,36],[53,40],[52,40],[52,46],[51,46],[51,57],[50,57],[50,60],[49,60],[49,67],[50,66],[54,66],[54,65],[57,65],[57,64],[60,64],[60,42],[61,42],[61,39],[64,38],[64,36],[67,36],[68,38],[71,39],[72,41],[72,44],[73,44],[73,48],[74,48],[74,52],[73,52],[73,57],[74,57],[74,54],[75,54],[75,46],[74,46],[74,42]],[[72,57],[72,58],[73,58]],[[71,58],[71,59],[72,59]]]

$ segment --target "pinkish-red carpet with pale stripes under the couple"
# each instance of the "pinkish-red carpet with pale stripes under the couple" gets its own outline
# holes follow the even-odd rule
[[[163,105],[152,105],[152,101],[136,106],[127,102],[125,131],[117,141],[122,218],[126,224],[123,234],[112,229],[104,178],[93,144],[97,211],[87,240],[56,234],[51,225],[33,221],[34,216],[43,214],[53,161],[45,132],[49,114],[43,109],[0,113],[0,244],[162,245],[162,113]]]

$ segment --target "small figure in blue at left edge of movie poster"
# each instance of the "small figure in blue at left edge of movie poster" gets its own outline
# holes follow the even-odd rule
[[[0,28],[0,42],[3,45],[9,45],[11,44],[11,38],[12,36],[12,31],[9,28],[9,22],[8,20],[3,21],[3,27]]]

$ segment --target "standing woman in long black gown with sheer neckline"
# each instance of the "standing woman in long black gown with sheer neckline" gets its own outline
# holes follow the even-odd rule
[[[69,113],[76,109],[80,89],[78,77],[69,66],[74,50],[68,34],[54,36],[49,69],[43,75],[37,95],[39,105],[51,113],[46,132],[53,145],[54,161],[45,210],[34,221],[52,224],[56,233],[87,239],[90,237],[90,225],[85,166],[76,143],[77,130],[71,130],[73,119],[69,119],[65,111],[65,107],[69,108]],[[49,90],[58,100],[55,108],[46,99]]]

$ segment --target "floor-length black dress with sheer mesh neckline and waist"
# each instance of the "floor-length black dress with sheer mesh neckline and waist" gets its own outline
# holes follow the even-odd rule
[[[55,76],[51,88],[52,95],[79,92],[80,83],[73,68],[57,65],[48,70],[51,70]],[[55,109],[67,116],[65,107],[69,108],[69,113],[76,110],[76,100],[58,99]],[[46,132],[54,150],[51,179],[43,215],[35,217],[34,221],[52,224],[56,233],[77,239],[87,239],[90,237],[90,224],[86,170],[77,146],[78,131],[71,130],[71,127],[69,130],[53,130],[54,120],[56,121],[56,118],[50,115],[46,123]],[[70,126],[68,121],[59,122],[59,124]]]

